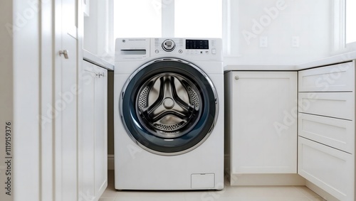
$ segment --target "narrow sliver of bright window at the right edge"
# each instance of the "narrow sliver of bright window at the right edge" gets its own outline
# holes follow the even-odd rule
[[[356,1],[346,0],[346,43],[356,42]]]

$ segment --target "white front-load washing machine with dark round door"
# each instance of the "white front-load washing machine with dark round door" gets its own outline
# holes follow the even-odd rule
[[[117,38],[115,188],[224,188],[219,38]]]

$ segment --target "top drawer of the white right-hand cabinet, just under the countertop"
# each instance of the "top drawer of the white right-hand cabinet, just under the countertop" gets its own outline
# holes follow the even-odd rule
[[[355,63],[341,63],[298,72],[299,92],[353,92]]]

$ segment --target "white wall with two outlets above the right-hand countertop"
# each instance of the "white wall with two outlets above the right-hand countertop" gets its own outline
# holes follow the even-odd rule
[[[231,0],[230,4],[231,55],[226,64],[294,65],[330,55],[333,0]],[[293,38],[299,40],[298,47],[293,47]]]

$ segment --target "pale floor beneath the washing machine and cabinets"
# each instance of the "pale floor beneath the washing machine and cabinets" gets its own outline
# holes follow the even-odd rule
[[[108,188],[100,201],[324,201],[304,186],[253,186],[226,185],[215,191],[117,191],[114,172],[108,173]]]

